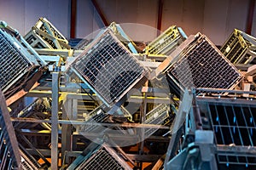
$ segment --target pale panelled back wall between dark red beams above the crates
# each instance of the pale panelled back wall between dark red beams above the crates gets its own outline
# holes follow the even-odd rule
[[[102,21],[90,0],[77,0],[76,37],[85,37],[102,28]],[[135,41],[156,37],[158,0],[96,0],[108,22],[138,23],[122,25]],[[245,31],[249,0],[164,0],[162,30],[176,25],[189,36],[198,31],[221,45],[235,29]],[[25,35],[39,17],[46,17],[69,37],[70,0],[0,0],[0,20]],[[145,26],[143,26],[145,25]],[[252,35],[256,36],[256,9]]]

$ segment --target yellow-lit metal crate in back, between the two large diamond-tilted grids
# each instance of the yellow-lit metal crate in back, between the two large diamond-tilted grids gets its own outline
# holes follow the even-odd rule
[[[186,35],[181,28],[171,26],[159,37],[150,42],[146,48],[148,54],[166,54],[172,51],[186,39]]]

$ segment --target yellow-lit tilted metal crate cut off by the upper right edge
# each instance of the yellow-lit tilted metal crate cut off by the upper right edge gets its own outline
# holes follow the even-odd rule
[[[255,44],[255,38],[235,29],[220,51],[234,64],[256,64]]]

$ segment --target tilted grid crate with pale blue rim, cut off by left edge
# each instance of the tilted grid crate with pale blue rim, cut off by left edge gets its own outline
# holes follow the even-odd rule
[[[0,88],[5,93],[39,64],[15,37],[2,29],[0,29],[0,47]]]

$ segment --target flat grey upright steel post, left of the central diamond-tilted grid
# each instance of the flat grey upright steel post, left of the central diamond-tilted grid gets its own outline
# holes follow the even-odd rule
[[[52,72],[51,169],[58,169],[59,72]]]

